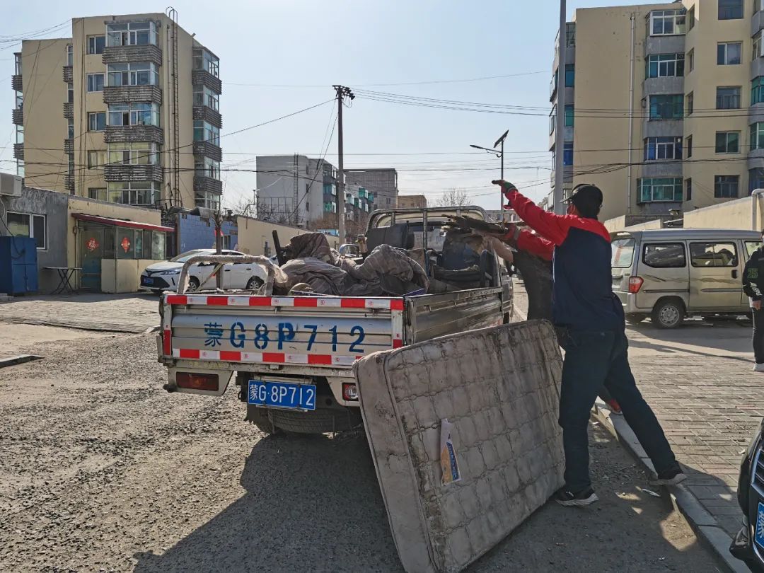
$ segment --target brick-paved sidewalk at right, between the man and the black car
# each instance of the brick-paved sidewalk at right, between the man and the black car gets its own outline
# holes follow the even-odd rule
[[[516,305],[526,293],[516,284]],[[626,329],[630,364],[688,480],[672,490],[694,529],[727,561],[743,517],[737,504],[740,459],[764,416],[764,375],[752,371],[750,327],[736,322],[688,322],[674,331],[649,322]],[[649,462],[620,416],[595,416],[623,445]],[[727,561],[728,565],[742,565]],[[746,571],[746,568],[740,569]]]

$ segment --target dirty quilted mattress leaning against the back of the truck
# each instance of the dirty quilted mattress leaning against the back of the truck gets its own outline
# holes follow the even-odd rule
[[[406,571],[461,571],[562,487],[562,358],[549,322],[377,352],[354,374]]]

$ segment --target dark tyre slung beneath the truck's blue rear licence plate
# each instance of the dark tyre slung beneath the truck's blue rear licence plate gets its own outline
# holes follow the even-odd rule
[[[318,409],[312,412],[275,410],[247,405],[247,420],[257,429],[272,434],[280,429],[296,434],[323,434],[345,432],[361,424],[361,410],[357,408]],[[272,422],[271,422],[272,421]]]

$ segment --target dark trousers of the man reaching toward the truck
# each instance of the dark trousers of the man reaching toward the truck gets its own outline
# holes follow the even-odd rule
[[[578,493],[591,486],[588,422],[603,385],[620,404],[623,417],[656,471],[674,468],[677,465],[674,452],[631,373],[626,333],[568,331],[560,338],[565,349],[559,417],[565,448],[565,487]]]

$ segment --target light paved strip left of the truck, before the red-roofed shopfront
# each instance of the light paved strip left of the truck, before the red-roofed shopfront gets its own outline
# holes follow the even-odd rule
[[[0,303],[0,322],[147,332],[159,325],[159,297],[137,293],[23,296]]]

